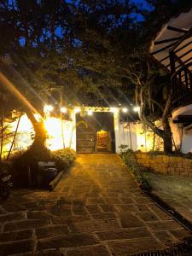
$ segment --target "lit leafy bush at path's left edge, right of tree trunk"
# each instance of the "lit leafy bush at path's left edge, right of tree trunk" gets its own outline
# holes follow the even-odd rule
[[[60,149],[51,152],[51,160],[55,161],[59,171],[66,171],[76,158],[75,151],[70,148]]]

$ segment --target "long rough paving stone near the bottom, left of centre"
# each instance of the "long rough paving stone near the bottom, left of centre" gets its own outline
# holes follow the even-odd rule
[[[96,238],[89,234],[73,234],[69,236],[58,236],[38,241],[38,250],[59,247],[79,247],[97,244]]]

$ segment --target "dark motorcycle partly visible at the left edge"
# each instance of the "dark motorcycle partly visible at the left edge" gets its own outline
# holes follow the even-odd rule
[[[11,175],[7,170],[0,172],[0,197],[5,200],[9,197],[10,188],[13,186],[11,182]]]

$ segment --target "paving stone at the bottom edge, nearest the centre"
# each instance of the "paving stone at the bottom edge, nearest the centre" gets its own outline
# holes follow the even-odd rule
[[[110,256],[107,249],[102,246],[73,249],[67,256]]]

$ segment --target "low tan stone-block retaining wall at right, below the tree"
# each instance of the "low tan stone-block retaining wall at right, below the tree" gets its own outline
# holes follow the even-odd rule
[[[137,163],[152,168],[154,172],[192,177],[192,160],[167,155],[136,153]]]

